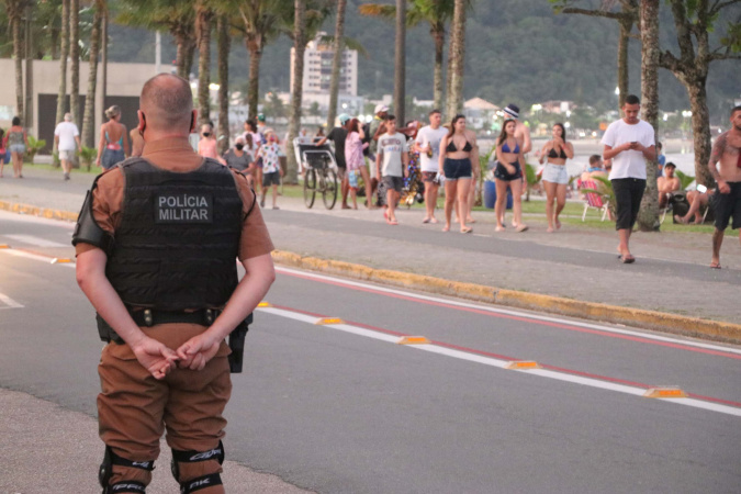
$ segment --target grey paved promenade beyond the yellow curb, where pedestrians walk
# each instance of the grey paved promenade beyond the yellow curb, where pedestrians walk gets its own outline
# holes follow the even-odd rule
[[[77,212],[93,180],[29,169],[26,179],[0,180],[0,201]],[[268,201],[269,202],[269,201]],[[722,270],[707,266],[710,236],[696,233],[636,233],[635,265],[617,260],[611,228],[564,225],[546,233],[544,215],[526,217],[529,232],[494,233],[491,212],[474,213],[473,235],[444,234],[423,225],[422,210],[400,210],[398,226],[380,211],[327,211],[321,198],[312,210],[300,199],[279,198],[280,211],[263,214],[276,247],[371,268],[427,274],[452,281],[548,294],[677,315],[739,323],[741,249],[728,231]],[[438,213],[438,218],[442,214]],[[512,229],[512,228],[510,228]]]

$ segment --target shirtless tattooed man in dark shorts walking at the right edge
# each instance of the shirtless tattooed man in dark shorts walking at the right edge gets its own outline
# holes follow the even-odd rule
[[[716,167],[718,164],[720,166]],[[741,227],[741,106],[731,110],[731,130],[720,134],[712,145],[708,169],[718,184],[712,197],[716,231],[712,234],[710,268],[720,269],[720,246],[731,216],[731,228]]]

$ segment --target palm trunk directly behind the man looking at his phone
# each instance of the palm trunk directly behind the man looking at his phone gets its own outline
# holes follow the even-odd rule
[[[641,115],[659,135],[659,0],[642,0],[640,9]],[[645,175],[645,192],[638,214],[638,227],[642,232],[653,232],[661,226],[655,159],[647,164]]]

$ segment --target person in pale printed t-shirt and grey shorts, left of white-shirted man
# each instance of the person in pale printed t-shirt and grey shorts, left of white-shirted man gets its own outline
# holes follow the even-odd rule
[[[378,154],[375,155],[375,170],[386,186],[386,207],[383,217],[390,225],[398,225],[396,221],[396,201],[404,187],[404,177],[409,170],[409,145],[406,136],[396,132],[396,117],[386,116],[386,132],[379,137]],[[383,164],[383,165],[382,165]]]

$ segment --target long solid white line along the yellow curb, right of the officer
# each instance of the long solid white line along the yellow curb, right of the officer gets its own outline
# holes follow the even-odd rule
[[[307,278],[314,278],[317,280],[326,280],[326,281],[332,281],[333,283],[341,283],[346,284],[349,287],[358,287],[362,289],[368,289],[368,290],[373,290],[377,292],[383,292],[383,293],[392,293],[395,295],[403,295],[409,299],[417,299],[422,301],[428,301],[428,302],[436,302],[436,303],[442,303],[442,304],[448,304],[448,305],[454,305],[458,307],[467,307],[467,308],[475,308],[478,311],[486,311],[491,312],[494,314],[506,314],[506,315],[512,315],[516,317],[525,317],[528,319],[535,319],[535,321],[544,321],[549,323],[558,323],[558,324],[566,324],[571,326],[577,326],[577,327],[584,327],[587,329],[598,329],[602,332],[607,332],[607,333],[615,333],[619,335],[627,335],[627,336],[637,336],[640,338],[645,338],[645,339],[653,339],[656,341],[667,341],[672,344],[677,344],[677,345],[685,345],[688,347],[697,347],[697,348],[706,348],[709,350],[720,350],[720,351],[727,351],[729,353],[738,353],[741,355],[741,348],[733,348],[733,347],[725,347],[720,345],[712,345],[712,344],[706,344],[701,341],[691,341],[691,340],[685,340],[685,339],[677,339],[677,338],[672,338],[667,336],[660,336],[660,335],[653,335],[650,333],[641,333],[637,330],[630,330],[630,329],[620,329],[617,327],[609,327],[609,326],[603,326],[599,324],[591,324],[591,323],[581,323],[577,321],[572,321],[572,319],[562,319],[559,317],[551,317],[551,316],[543,316],[543,315],[536,315],[536,314],[529,314],[525,312],[517,312],[517,311],[512,311],[507,308],[498,308],[498,307],[491,307],[486,305],[476,305],[473,303],[467,303],[467,302],[459,302],[450,299],[438,299],[436,296],[429,296],[429,295],[420,295],[418,293],[413,293],[413,292],[405,292],[402,290],[395,290],[395,289],[389,289],[385,287],[378,287],[374,284],[367,284],[358,281],[351,281],[351,280],[345,280],[341,278],[333,278],[333,277],[327,277],[324,274],[317,274],[311,271],[300,271],[296,269],[291,269],[291,268],[284,268],[284,267],[276,267],[276,271],[278,272],[285,272],[285,273],[291,273],[291,274],[299,274],[302,277],[307,277]]]

